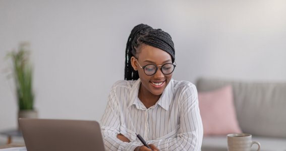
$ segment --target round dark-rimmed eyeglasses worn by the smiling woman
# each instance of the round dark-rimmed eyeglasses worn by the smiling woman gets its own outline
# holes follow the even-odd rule
[[[136,59],[136,61],[139,64],[137,59]],[[167,75],[167,74],[172,73],[177,65],[173,64],[173,63],[165,63],[163,65],[147,64],[144,66],[141,66],[139,64],[139,66],[141,68],[143,68],[146,75],[150,76],[150,75],[154,75],[157,72],[158,66],[160,66],[162,73]]]

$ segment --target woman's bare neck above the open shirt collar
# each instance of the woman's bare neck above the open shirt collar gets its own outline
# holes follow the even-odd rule
[[[153,95],[148,90],[143,88],[144,86],[140,85],[138,98],[144,104],[144,106],[148,109],[149,107],[155,105],[161,95]]]

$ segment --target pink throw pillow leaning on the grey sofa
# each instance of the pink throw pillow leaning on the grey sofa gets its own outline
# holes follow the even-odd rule
[[[232,86],[199,92],[198,99],[204,135],[242,132],[237,120]]]

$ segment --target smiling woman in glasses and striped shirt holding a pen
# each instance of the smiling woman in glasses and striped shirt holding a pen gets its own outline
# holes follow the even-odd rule
[[[144,24],[133,28],[126,46],[125,80],[112,86],[101,119],[106,150],[201,149],[197,89],[173,80],[175,67],[168,33]]]

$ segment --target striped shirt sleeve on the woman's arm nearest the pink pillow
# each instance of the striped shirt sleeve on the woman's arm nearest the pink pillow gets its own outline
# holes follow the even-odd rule
[[[160,150],[201,150],[203,125],[200,116],[198,93],[195,85],[182,89],[179,97],[180,128],[176,138],[150,140]]]

